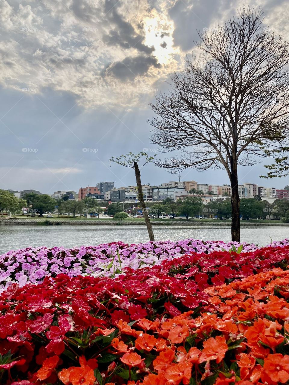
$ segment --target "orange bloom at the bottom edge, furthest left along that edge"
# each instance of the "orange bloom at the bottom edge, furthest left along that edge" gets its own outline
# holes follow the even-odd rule
[[[62,369],[58,377],[64,385],[93,385],[96,380],[93,369],[87,365]]]

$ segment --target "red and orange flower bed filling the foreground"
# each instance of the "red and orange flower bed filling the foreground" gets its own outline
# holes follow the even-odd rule
[[[14,283],[0,295],[0,383],[288,383],[289,245],[274,246]]]

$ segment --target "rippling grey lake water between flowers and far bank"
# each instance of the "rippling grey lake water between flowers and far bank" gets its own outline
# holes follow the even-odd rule
[[[196,238],[230,241],[229,226],[153,226],[156,240]],[[265,246],[289,237],[287,226],[241,227],[241,241]],[[146,226],[0,226],[0,254],[28,246],[74,247],[123,241],[148,241]]]

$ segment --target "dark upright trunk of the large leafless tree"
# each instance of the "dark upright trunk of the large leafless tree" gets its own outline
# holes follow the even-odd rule
[[[231,187],[232,187],[232,224],[231,224],[231,236],[232,241],[240,242],[240,197],[238,188],[238,174],[237,164],[232,161],[231,164]]]

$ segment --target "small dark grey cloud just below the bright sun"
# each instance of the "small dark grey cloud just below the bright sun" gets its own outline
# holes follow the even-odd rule
[[[113,75],[122,81],[133,80],[138,75],[146,74],[151,66],[155,68],[161,67],[154,56],[139,55],[136,57],[126,57],[121,62],[111,64],[104,70],[102,76]]]

